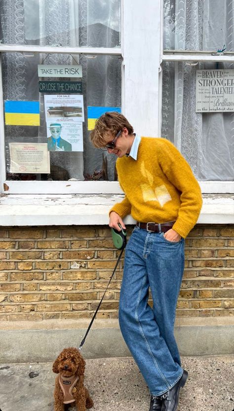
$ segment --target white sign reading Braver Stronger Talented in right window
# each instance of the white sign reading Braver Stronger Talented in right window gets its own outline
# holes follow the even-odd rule
[[[196,70],[196,112],[234,111],[234,69]]]

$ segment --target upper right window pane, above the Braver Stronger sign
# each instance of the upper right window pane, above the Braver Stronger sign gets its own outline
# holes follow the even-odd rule
[[[234,51],[234,0],[164,0],[163,48]]]

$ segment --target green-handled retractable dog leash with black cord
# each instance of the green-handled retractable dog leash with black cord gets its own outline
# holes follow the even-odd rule
[[[84,344],[84,342],[85,342],[85,339],[86,339],[86,337],[87,337],[87,335],[88,335],[88,332],[89,332],[89,330],[90,330],[90,328],[91,328],[91,326],[92,326],[92,323],[93,323],[93,321],[94,321],[94,319],[95,319],[95,317],[96,317],[96,314],[97,314],[97,312],[98,312],[98,310],[99,310],[99,308],[100,308],[100,306],[101,306],[101,304],[102,304],[102,300],[103,300],[104,297],[105,297],[105,294],[106,294],[106,291],[107,291],[107,289],[108,289],[108,287],[109,287],[109,284],[110,284],[110,282],[111,282],[111,280],[112,280],[112,278],[113,278],[113,276],[114,276],[114,274],[115,274],[115,272],[116,272],[118,263],[119,263],[120,258],[121,258],[121,256],[122,256],[122,253],[123,253],[123,250],[124,250],[124,248],[126,247],[126,243],[127,243],[127,233],[126,233],[126,230],[124,230],[124,229],[121,227],[120,224],[118,224],[118,225],[119,225],[119,227],[120,227],[121,230],[120,230],[120,231],[117,231],[115,228],[112,228],[112,229],[111,229],[111,232],[112,232],[112,239],[113,239],[114,245],[115,245],[115,247],[116,247],[118,250],[121,250],[121,252],[120,252],[119,257],[118,257],[118,259],[117,259],[117,263],[116,263],[116,266],[115,266],[115,268],[114,268],[114,271],[113,271],[113,273],[112,273],[112,275],[111,275],[111,278],[110,278],[110,280],[109,280],[109,282],[108,282],[108,284],[107,284],[107,288],[106,288],[106,290],[105,290],[105,292],[104,292],[104,294],[103,294],[103,296],[102,296],[102,298],[101,298],[100,303],[98,304],[98,307],[96,308],[96,311],[95,311],[94,314],[93,314],[93,318],[92,318],[91,321],[90,321],[90,324],[89,324],[89,326],[88,326],[88,328],[87,328],[87,331],[86,331],[86,333],[85,333],[85,336],[84,336],[83,340],[81,341],[81,343],[80,343],[80,345],[79,345],[79,348],[78,348],[79,350],[81,350],[81,348],[82,348],[82,346],[83,346],[83,344]]]

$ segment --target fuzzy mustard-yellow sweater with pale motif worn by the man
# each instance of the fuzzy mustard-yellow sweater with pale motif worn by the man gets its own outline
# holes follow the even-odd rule
[[[202,205],[200,187],[184,157],[165,138],[142,137],[137,160],[117,159],[121,203],[112,207],[141,222],[176,221],[173,229],[185,238],[194,227]]]

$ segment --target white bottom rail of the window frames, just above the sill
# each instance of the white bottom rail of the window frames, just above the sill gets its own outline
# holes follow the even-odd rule
[[[122,194],[118,181],[10,181],[3,194]],[[202,193],[233,194],[233,181],[199,181]]]

